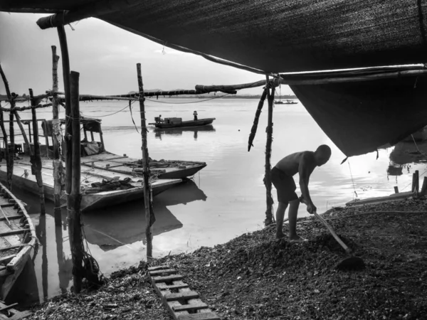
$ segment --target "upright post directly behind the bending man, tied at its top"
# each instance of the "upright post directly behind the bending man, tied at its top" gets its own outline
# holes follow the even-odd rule
[[[266,189],[266,203],[267,210],[265,210],[265,225],[270,225],[274,222],[273,219],[273,197],[271,196],[271,144],[273,143],[273,101],[274,101],[274,84],[272,88],[268,87],[270,83],[268,75],[265,76],[267,83],[267,96],[268,96],[268,125],[265,131],[267,132],[267,143],[265,145],[265,189]],[[271,90],[271,91],[270,91]]]

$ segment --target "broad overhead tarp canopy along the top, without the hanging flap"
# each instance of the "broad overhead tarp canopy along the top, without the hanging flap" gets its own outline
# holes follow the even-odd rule
[[[2,11],[61,12],[93,0],[4,0]],[[122,0],[98,16],[140,35],[278,73],[420,63],[427,1]]]

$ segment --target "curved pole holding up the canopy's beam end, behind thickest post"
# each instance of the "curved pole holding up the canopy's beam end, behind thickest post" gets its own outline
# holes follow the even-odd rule
[[[58,26],[58,37],[60,43],[60,52],[63,57],[63,78],[65,92],[65,139],[64,139],[64,154],[65,154],[65,191],[71,193],[71,164],[73,156],[71,154],[71,122],[70,122],[70,59],[68,58],[67,36],[63,26]],[[68,152],[70,150],[70,152]],[[69,165],[68,165],[69,164]]]

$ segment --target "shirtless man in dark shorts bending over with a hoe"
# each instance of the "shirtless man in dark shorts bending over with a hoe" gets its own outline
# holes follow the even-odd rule
[[[307,205],[307,211],[313,213],[316,211],[316,207],[310,198],[308,192],[308,181],[310,174],[316,166],[322,166],[326,164],[330,159],[331,149],[326,144],[322,144],[313,151],[301,151],[295,154],[285,156],[282,160],[275,165],[271,170],[271,182],[278,191],[279,206],[276,212],[276,238],[284,238],[283,234],[283,218],[285,216],[285,210],[289,207],[289,239],[294,242],[305,241],[297,235],[297,214],[300,201]],[[300,174],[300,188],[302,196],[298,199],[297,193],[295,193],[295,181],[292,178],[296,173]]]

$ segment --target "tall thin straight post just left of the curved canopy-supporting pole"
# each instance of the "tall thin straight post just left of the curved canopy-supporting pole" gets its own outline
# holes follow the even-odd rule
[[[58,60],[56,46],[52,46],[52,144],[53,144],[53,213],[55,215],[55,225],[62,224],[60,209],[60,193],[62,191],[61,177],[63,176],[63,163],[60,159],[60,143],[62,134],[60,132],[59,112],[58,112]],[[62,237],[62,235],[61,235]]]

